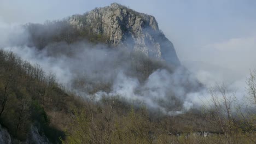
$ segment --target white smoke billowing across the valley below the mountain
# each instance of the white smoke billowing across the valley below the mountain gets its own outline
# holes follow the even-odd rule
[[[25,61],[39,64],[46,73],[56,75],[57,81],[67,88],[72,89],[73,81],[77,79],[112,83],[110,91],[96,92],[95,100],[100,100],[104,95],[119,96],[127,101],[144,104],[149,109],[175,115],[205,105],[211,99],[206,88],[218,82],[218,79],[225,79],[225,76],[218,76],[215,71],[191,70],[206,86],[195,90],[191,87],[201,87],[200,83],[194,75],[181,67],[172,73],[167,69],[157,69],[146,81],[141,82],[138,77],[127,75],[130,64],[126,61],[129,53],[126,50],[110,50],[104,45],[90,45],[80,41],[74,44],[54,43],[39,51],[37,47],[27,46],[29,34],[24,27],[0,22],[0,33],[0,49],[13,51]],[[190,66],[193,67],[193,64]],[[82,89],[85,87],[90,89],[93,85],[90,87],[85,83]],[[245,83],[231,82],[230,88],[233,92],[237,91],[237,87],[244,88]],[[82,89],[77,91],[82,91],[83,97],[89,97]],[[237,93],[244,94],[242,90]],[[177,101],[179,104],[176,104]]]

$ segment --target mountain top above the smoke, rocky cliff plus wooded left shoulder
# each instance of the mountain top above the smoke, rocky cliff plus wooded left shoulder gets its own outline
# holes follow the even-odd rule
[[[30,24],[28,31],[37,47],[65,40],[88,40],[110,47],[130,48],[150,58],[180,65],[173,44],[159,30],[154,16],[138,13],[123,5],[95,8],[83,15],[73,15],[44,25]]]

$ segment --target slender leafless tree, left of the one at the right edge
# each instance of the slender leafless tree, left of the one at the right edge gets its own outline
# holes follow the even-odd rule
[[[237,143],[235,133],[238,132],[238,129],[234,124],[234,118],[231,111],[234,108],[234,102],[236,101],[235,93],[229,92],[224,84],[211,88],[210,93],[210,110],[207,111],[212,112],[212,123],[222,131],[226,142]],[[220,141],[224,141],[220,135],[219,139]]]

